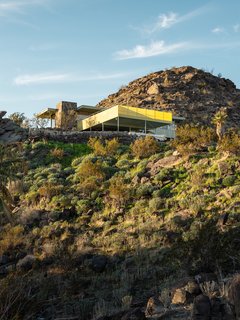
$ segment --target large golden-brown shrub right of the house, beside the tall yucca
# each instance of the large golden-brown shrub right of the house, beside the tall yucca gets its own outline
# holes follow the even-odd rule
[[[176,139],[173,140],[172,146],[180,154],[188,156],[206,149],[215,141],[216,136],[212,128],[186,124],[177,128]]]

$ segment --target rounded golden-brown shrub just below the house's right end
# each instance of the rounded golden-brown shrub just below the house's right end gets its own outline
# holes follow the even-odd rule
[[[159,143],[152,136],[141,137],[131,144],[130,149],[135,157],[148,158],[159,151]]]

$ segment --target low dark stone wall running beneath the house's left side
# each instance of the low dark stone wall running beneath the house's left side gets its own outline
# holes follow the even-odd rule
[[[101,139],[113,139],[118,138],[119,142],[124,144],[130,144],[138,138],[135,134],[129,134],[128,132],[116,132],[116,131],[62,131],[54,129],[30,129],[29,138],[34,140],[53,140],[69,143],[86,143],[89,138],[98,137]]]

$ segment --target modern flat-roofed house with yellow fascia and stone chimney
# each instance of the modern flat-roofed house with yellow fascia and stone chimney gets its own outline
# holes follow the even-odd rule
[[[154,134],[166,138],[175,137],[175,121],[172,112],[117,105],[107,109],[81,105],[75,102],[59,102],[55,109],[47,108],[37,114],[49,119],[51,127],[80,131],[128,131]]]

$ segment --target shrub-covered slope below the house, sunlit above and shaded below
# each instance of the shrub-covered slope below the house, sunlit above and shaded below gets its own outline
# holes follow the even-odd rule
[[[12,219],[0,210],[1,319],[186,320],[201,292],[227,306],[239,156],[175,147],[26,142]]]

